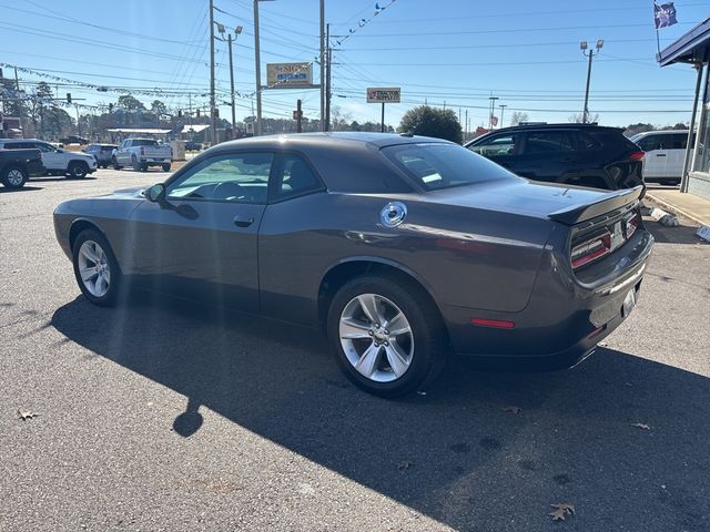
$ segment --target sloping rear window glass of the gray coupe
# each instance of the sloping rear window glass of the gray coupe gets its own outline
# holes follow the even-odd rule
[[[513,177],[496,163],[455,144],[400,144],[382,152],[427,191]]]

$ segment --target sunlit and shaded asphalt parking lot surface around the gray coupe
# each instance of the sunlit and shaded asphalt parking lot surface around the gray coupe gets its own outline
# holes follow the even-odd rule
[[[0,188],[1,531],[710,530],[710,245],[693,227],[648,222],[638,307],[576,368],[455,361],[386,401],[311,330],[80,296],[54,206],[165,175]]]

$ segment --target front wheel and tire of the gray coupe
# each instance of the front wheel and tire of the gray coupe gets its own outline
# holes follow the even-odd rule
[[[116,303],[123,276],[111,246],[97,229],[82,231],[72,247],[74,277],[82,294],[94,305]]]

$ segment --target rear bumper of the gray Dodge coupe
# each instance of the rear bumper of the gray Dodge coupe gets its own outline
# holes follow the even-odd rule
[[[527,370],[561,369],[579,362],[628,317],[623,307],[629,293],[639,295],[653,237],[645,231],[637,233],[615,257],[621,266],[597,283],[577,280],[561,266],[562,257],[548,253],[528,306],[519,313],[443,306],[455,350],[483,361],[514,362],[517,369]],[[515,326],[481,327],[471,325],[471,318]]]

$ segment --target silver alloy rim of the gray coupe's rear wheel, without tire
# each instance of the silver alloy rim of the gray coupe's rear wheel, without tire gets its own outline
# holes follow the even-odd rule
[[[392,382],[409,369],[412,326],[384,296],[362,294],[351,299],[341,314],[339,336],[347,361],[367,379]]]

